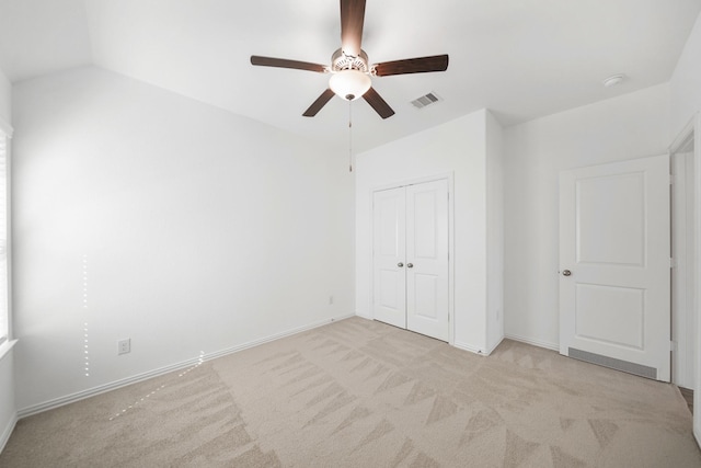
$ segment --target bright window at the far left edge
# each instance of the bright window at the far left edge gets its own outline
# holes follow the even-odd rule
[[[10,333],[9,269],[8,269],[8,152],[9,138],[0,130],[0,344]]]

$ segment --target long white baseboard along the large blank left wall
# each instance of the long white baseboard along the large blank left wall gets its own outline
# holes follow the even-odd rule
[[[31,416],[33,414],[37,414],[44,411],[53,410],[55,408],[62,407],[65,404],[70,404],[76,401],[84,400],[85,398],[94,397],[100,393],[104,393],[111,390],[116,390],[117,388],[126,387],[127,385],[137,384],[139,381],[148,380],[153,377],[161,376],[163,374],[168,374],[174,370],[181,370],[191,366],[194,366],[204,361],[216,359],[217,357],[226,356],[228,354],[238,353],[239,351],[248,350],[250,347],[258,346],[261,344],[269,343],[271,341],[279,340],[281,338],[291,336],[297,333],[301,333],[308,330],[312,330],[319,327],[323,327],[329,323],[333,323],[340,320],[345,320],[350,317],[355,317],[355,313],[346,313],[342,316],[332,317],[330,319],[320,320],[317,322],[308,323],[306,326],[297,327],[290,330],[286,330],[280,333],[275,333],[269,336],[265,336],[258,340],[253,340],[243,344],[239,344],[237,346],[227,347],[225,350],[216,351],[214,353],[203,354],[202,356],[193,357],[187,361],[183,361],[176,364],[172,364],[169,366],[160,367],[158,369],[149,370],[142,374],[137,374],[131,377],[126,377],[119,380],[112,381],[110,384],[100,385],[97,387],[89,388],[87,390],[78,391],[76,393],[67,395],[65,397],[55,398],[53,400],[45,401],[43,403],[33,404],[31,407],[22,408],[18,411],[15,421],[18,419]]]

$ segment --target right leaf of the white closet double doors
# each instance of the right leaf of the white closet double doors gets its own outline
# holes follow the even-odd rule
[[[406,187],[406,328],[448,341],[448,181]]]

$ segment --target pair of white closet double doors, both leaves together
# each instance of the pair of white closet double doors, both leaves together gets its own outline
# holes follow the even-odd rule
[[[449,340],[448,181],[374,195],[375,319]]]

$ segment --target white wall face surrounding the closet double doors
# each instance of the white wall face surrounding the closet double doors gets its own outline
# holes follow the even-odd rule
[[[482,110],[358,155],[356,159],[356,312],[371,310],[371,193],[453,173],[455,344],[487,347],[487,115]],[[491,118],[491,116],[490,116]],[[490,121],[496,124],[496,121]],[[498,125],[498,124],[496,124]],[[497,130],[493,130],[498,135]]]

